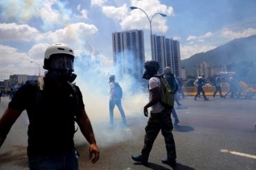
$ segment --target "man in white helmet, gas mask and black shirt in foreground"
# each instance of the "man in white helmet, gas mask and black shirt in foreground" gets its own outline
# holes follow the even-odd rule
[[[90,143],[91,162],[99,159],[82,93],[71,84],[76,78],[73,61],[70,47],[61,43],[50,45],[44,56],[46,75],[21,86],[0,119],[1,147],[15,120],[26,109],[30,121],[27,148],[30,169],[78,169],[73,141],[75,122]]]

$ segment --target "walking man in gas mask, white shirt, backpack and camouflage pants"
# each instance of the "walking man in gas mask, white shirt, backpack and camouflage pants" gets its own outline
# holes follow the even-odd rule
[[[176,167],[176,148],[174,136],[172,135],[173,126],[170,116],[173,107],[174,96],[171,98],[172,102],[169,105],[165,105],[166,103],[163,102],[164,96],[162,96],[162,87],[166,80],[163,80],[163,77],[158,76],[159,63],[157,61],[147,61],[144,64],[144,67],[145,72],[143,74],[143,78],[149,80],[149,103],[147,103],[147,105],[144,107],[144,115],[146,117],[148,116],[147,108],[151,107],[152,109],[150,111],[150,117],[147,122],[147,126],[145,127],[146,134],[144,147],[139,155],[133,155],[131,158],[136,162],[147,164],[149,153],[152,150],[154,140],[161,130],[165,138],[165,146],[167,150],[167,158],[163,159],[162,162],[164,164],[169,164],[171,167]],[[167,82],[164,84],[164,86],[167,87],[167,89],[170,88]],[[170,92],[172,92],[171,89]]]

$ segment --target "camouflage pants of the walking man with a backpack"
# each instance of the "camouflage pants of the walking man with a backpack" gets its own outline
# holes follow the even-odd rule
[[[146,158],[149,157],[149,153],[153,147],[154,140],[158,136],[161,130],[165,138],[165,146],[167,150],[168,160],[176,160],[176,149],[174,136],[172,135],[172,119],[170,116],[170,109],[164,109],[160,113],[151,114],[145,127],[145,140],[144,147],[141,154]]]

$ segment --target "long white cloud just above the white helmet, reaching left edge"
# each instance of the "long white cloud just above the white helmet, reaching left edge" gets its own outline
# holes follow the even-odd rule
[[[0,41],[35,41],[37,43],[83,43],[90,36],[98,32],[95,25],[86,23],[72,23],[65,28],[39,32],[29,25],[18,25],[17,23],[0,23]]]

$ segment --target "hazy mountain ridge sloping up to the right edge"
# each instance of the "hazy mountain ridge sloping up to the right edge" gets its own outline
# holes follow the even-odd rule
[[[205,61],[209,65],[230,65],[241,62],[256,62],[256,34],[233,39],[208,52],[201,52],[181,60],[181,67],[188,73],[196,73],[196,66]]]

